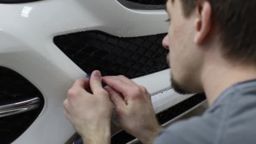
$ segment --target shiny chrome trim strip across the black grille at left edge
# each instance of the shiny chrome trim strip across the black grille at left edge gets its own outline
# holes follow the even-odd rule
[[[40,98],[35,97],[23,101],[15,101],[10,104],[0,105],[0,117],[16,115],[40,107]]]

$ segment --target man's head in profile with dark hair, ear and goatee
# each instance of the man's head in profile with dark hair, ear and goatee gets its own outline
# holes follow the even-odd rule
[[[163,45],[171,83],[180,93],[203,91],[209,61],[256,64],[255,0],[168,0],[171,20]]]

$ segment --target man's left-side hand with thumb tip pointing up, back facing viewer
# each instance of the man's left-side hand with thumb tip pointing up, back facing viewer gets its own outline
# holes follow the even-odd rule
[[[99,71],[94,71],[90,79],[76,80],[63,105],[65,115],[82,136],[84,144],[110,143],[112,103],[101,86]]]

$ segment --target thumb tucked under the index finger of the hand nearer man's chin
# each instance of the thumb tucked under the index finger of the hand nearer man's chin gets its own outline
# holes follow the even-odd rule
[[[126,105],[120,93],[109,86],[106,86],[104,89],[109,93],[109,98],[115,104],[115,107],[124,107]]]

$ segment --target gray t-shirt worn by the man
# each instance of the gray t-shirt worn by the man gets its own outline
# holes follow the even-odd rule
[[[256,80],[228,88],[202,116],[174,123],[154,144],[256,144]]]

